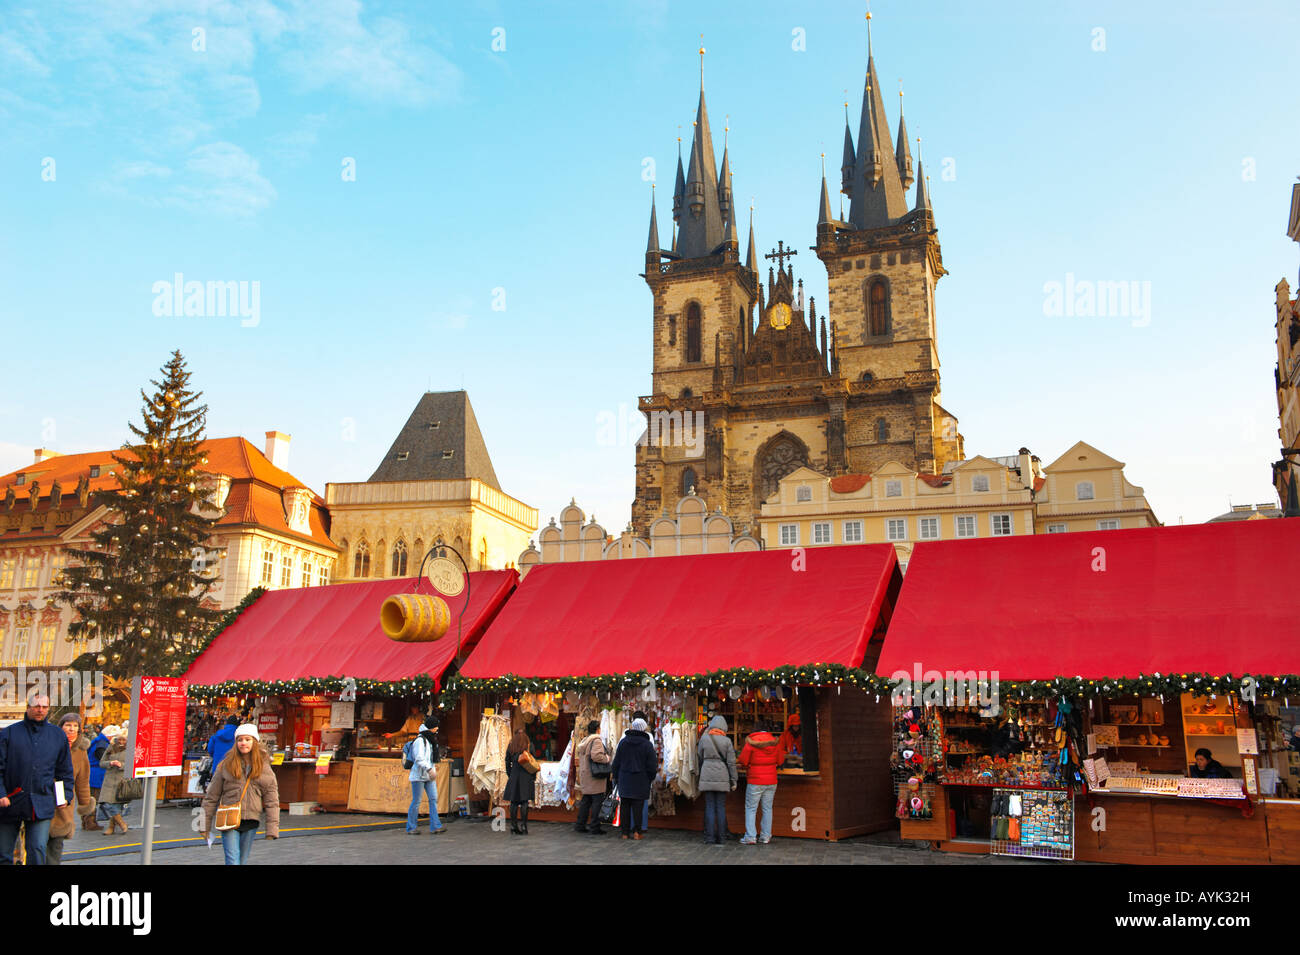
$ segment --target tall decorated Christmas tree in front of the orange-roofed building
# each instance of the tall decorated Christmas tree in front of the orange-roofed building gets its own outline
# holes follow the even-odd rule
[[[220,612],[203,605],[217,583],[220,554],[209,546],[216,515],[205,503],[200,469],[207,405],[190,391],[181,352],[151,382],[139,439],[113,455],[117,487],[95,494],[109,513],[91,533],[94,546],[72,550],[60,599],[77,609],[74,638],[103,641],[74,667],[110,676],[168,676],[183,670]]]

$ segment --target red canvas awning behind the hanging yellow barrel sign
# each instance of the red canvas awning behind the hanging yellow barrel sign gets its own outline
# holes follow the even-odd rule
[[[211,686],[228,680],[408,680],[442,676],[456,655],[456,616],[462,646],[472,647],[519,582],[515,570],[469,574],[464,594],[443,598],[451,609],[447,635],[430,643],[398,643],[380,626],[380,607],[394,594],[408,594],[416,578],[335,583],[328,587],[273,590],[263,594],[212,642],[185,674]],[[420,592],[432,592],[428,581]]]

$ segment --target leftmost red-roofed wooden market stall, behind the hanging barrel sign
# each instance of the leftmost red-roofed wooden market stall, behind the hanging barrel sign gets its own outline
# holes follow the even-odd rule
[[[425,643],[389,639],[380,607],[430,592],[419,578],[269,591],[217,633],[186,673],[205,730],[228,715],[257,725],[272,752],[283,808],[406,812],[411,789],[402,746],[437,699],[448,667],[473,648],[515,589],[514,570],[469,574],[467,594],[445,598],[450,631]],[[463,611],[463,612],[462,612]],[[439,733],[439,812],[463,793],[464,738]]]

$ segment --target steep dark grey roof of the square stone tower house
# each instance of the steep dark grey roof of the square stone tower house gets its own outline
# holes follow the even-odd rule
[[[437,427],[434,427],[437,422]],[[451,457],[445,452],[450,451]],[[399,456],[406,455],[403,460]],[[426,391],[411,412],[370,481],[456,481],[478,478],[500,490],[464,391]]]

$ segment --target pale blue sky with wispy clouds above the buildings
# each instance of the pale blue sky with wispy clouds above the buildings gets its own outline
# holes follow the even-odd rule
[[[0,472],[35,447],[118,446],[181,348],[209,434],[291,434],[290,470],[320,491],[365,479],[425,388],[465,387],[504,490],[543,525],[577,498],[618,531],[637,431],[611,444],[597,422],[649,391],[645,160],[667,244],[699,34],[737,199],[763,251],[800,248],[824,311],[819,153],[833,188],[862,13],[6,4]],[[942,399],[967,452],[1049,463],[1084,439],[1170,524],[1273,500],[1273,287],[1300,264],[1295,5],[874,13],[888,118],[902,78],[923,138],[950,273]],[[156,314],[176,273],[257,282],[256,324]],[[1067,275],[1138,282],[1149,313],[1048,314]]]

